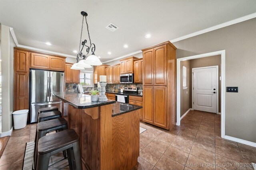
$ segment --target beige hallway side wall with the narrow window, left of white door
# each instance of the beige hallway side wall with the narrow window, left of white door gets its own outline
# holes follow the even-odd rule
[[[183,68],[182,66],[186,66],[187,68],[187,87],[186,89],[183,89],[182,87],[182,82],[183,82]],[[190,60],[187,61],[181,61],[180,62],[180,117],[188,111],[188,109],[192,108],[191,105],[191,100],[190,100],[190,86],[191,82],[189,81],[191,77],[191,67],[190,67]]]

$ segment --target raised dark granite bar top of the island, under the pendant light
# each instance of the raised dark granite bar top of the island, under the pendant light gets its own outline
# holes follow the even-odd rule
[[[87,109],[90,107],[103,106],[107,104],[116,103],[115,100],[108,100],[106,102],[92,102],[91,96],[87,94],[78,94],[74,92],[54,92],[52,93],[54,96],[59,98],[60,100],[78,108],[78,109]]]

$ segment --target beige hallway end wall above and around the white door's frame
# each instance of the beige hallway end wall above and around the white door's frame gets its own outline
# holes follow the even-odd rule
[[[218,95],[219,95],[219,112],[220,112],[220,55],[215,55],[215,56],[210,56],[210,57],[204,57],[204,58],[200,58],[200,59],[193,59],[190,60],[190,66],[191,66],[191,70],[192,68],[198,68],[198,67],[206,67],[206,66],[219,66],[219,90],[218,90]],[[192,74],[190,75],[189,78],[189,82],[190,82],[190,92],[192,92]],[[192,108],[192,93],[190,93],[190,108]]]

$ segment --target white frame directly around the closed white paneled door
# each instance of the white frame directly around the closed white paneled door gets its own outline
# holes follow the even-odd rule
[[[216,113],[219,112],[219,66],[207,66],[207,67],[197,67],[197,68],[192,68],[192,109],[194,110],[194,69],[201,69],[201,68],[212,68],[216,67]]]

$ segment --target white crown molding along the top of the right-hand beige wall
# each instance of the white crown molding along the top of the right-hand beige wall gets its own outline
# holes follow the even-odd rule
[[[239,22],[242,22],[242,21],[246,21],[246,20],[250,20],[252,18],[256,18],[256,13],[253,13],[253,14],[250,14],[248,16],[244,16],[244,17],[241,17],[241,18],[237,18],[235,20],[231,20],[231,21],[228,21],[228,22],[224,22],[224,23],[221,23],[219,25],[215,25],[213,27],[210,27],[210,28],[206,28],[206,29],[203,29],[201,31],[197,31],[197,32],[194,32],[194,33],[191,33],[191,34],[188,34],[188,35],[184,35],[182,37],[178,37],[176,39],[172,39],[170,40],[171,43],[175,43],[177,41],[181,41],[183,39],[187,39],[187,38],[190,38],[190,37],[194,37],[196,35],[200,35],[200,34],[203,34],[203,33],[207,33],[207,32],[210,32],[210,31],[214,31],[216,29],[220,29],[220,28],[223,28],[223,27],[227,27],[229,25],[233,25],[235,23],[239,23]]]

